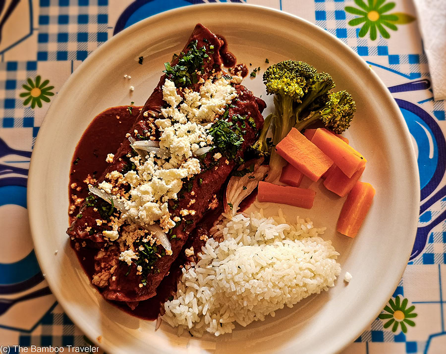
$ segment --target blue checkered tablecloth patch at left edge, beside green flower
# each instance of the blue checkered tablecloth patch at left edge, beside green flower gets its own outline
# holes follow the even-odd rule
[[[25,107],[18,95],[25,91],[26,79],[35,78],[36,70],[36,61],[0,63],[0,128],[30,128],[34,139],[39,130],[34,127],[34,110]]]

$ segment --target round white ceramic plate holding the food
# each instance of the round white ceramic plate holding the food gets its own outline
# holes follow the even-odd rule
[[[90,285],[65,234],[71,156],[96,114],[107,107],[143,104],[156,86],[163,63],[179,52],[197,22],[223,35],[239,62],[266,68],[293,58],[332,74],[357,113],[346,136],[368,159],[362,177],[376,189],[359,235],[335,233],[343,200],[315,184],[315,207],[286,207],[288,217],[311,217],[327,226],[325,238],[341,253],[335,288],[277,311],[274,318],[232,334],[202,339],[176,336],[166,323],[132,317],[102,299]],[[138,57],[144,55],[144,64]],[[131,75],[130,81],[123,79]],[[266,97],[261,75],[244,84]],[[133,94],[129,86],[135,87]],[[267,112],[268,112],[267,110]],[[105,128],[104,134],[107,134]],[[386,87],[366,63],[328,32],[276,10],[235,4],[183,7],[143,20],[111,38],[71,75],[51,105],[31,161],[28,208],[36,253],[57,300],[87,336],[110,353],[331,353],[352,342],[390,298],[406,266],[418,217],[419,180],[408,129]],[[277,213],[277,204],[266,209]],[[55,251],[58,253],[55,255]],[[345,271],[353,275],[347,286]],[[187,333],[187,332],[186,332]]]

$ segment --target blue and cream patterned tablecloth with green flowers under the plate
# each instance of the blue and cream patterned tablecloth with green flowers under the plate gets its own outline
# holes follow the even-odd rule
[[[26,211],[30,151],[51,101],[88,54],[138,20],[215,0],[1,2],[0,302],[32,295],[0,314],[0,344],[87,346],[48,294],[33,251]],[[247,2],[303,17],[356,51],[389,87],[417,151],[421,208],[412,256],[381,315],[344,353],[445,353],[446,105],[433,101],[411,0],[382,0],[378,8],[376,0]]]

